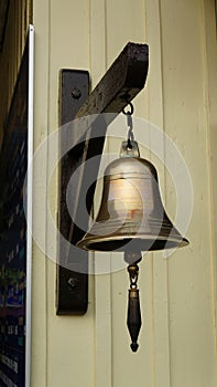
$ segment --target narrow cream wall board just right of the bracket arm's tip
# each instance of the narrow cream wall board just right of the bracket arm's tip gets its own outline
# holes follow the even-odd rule
[[[152,71],[155,71],[155,80],[151,80],[149,82],[149,93],[151,94],[152,102],[152,93],[158,94],[159,108],[158,116],[155,112],[152,109],[152,105],[150,104],[150,117],[151,121],[154,121],[154,124],[161,126],[161,129],[164,127],[164,101],[163,101],[163,52],[162,52],[162,20],[161,20],[161,1],[147,1],[147,31],[148,31],[148,40],[152,41],[152,36],[155,36],[154,44],[159,46],[159,57],[154,59],[155,64],[153,65],[152,54],[152,45],[150,44],[150,65],[152,64]],[[158,41],[156,41],[158,39]],[[158,62],[158,64],[156,64]],[[150,71],[151,72],[151,71]],[[151,82],[153,82],[151,84]],[[149,97],[149,100],[150,100]],[[164,145],[163,145],[164,146]],[[165,149],[164,149],[165,154]],[[161,180],[164,181],[165,186],[165,171],[163,172],[164,178]],[[163,274],[163,275],[162,275]],[[166,348],[164,348],[164,380],[166,379],[166,385],[171,385],[171,358],[170,358],[170,326],[169,326],[169,278],[167,278],[167,262],[165,260],[162,261],[153,254],[153,344],[154,344],[154,386],[160,386],[162,384],[162,378],[160,377],[160,367],[162,367],[162,353],[159,352],[159,343],[160,337],[163,335],[163,342],[166,343]],[[164,299],[166,299],[166,305],[160,305],[162,302],[161,290],[163,287]],[[163,313],[163,327],[159,325],[160,317],[160,308],[164,308]],[[166,310],[165,310],[166,308]],[[162,331],[163,330],[163,331]],[[162,346],[162,344],[161,344]],[[161,348],[162,349],[162,348]],[[166,354],[166,355],[165,355]]]

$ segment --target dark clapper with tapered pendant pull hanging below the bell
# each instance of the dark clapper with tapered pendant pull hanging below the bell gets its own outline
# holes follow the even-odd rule
[[[131,337],[131,349],[132,352],[137,352],[139,344],[137,343],[139,332],[142,325],[142,320],[141,320],[141,312],[140,312],[140,299],[139,299],[139,289],[138,289],[138,275],[139,275],[139,265],[138,262],[141,261],[141,254],[139,254],[140,258],[135,260],[134,262],[133,259],[135,258],[134,253],[126,253],[124,254],[124,260],[130,263],[128,265],[128,272],[130,276],[130,289],[129,289],[129,299],[128,299],[128,330],[130,333]],[[138,257],[139,257],[138,255]],[[131,263],[132,262],[132,263]]]

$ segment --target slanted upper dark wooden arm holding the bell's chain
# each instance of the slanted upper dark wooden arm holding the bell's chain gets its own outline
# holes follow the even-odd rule
[[[118,114],[144,87],[149,66],[149,46],[128,43],[106,72],[76,117],[91,114]]]

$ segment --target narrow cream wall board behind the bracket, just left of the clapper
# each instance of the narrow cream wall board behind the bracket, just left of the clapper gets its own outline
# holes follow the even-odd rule
[[[100,19],[99,19],[100,14]],[[89,69],[93,87],[107,69],[107,0],[89,2]],[[100,40],[96,40],[99,30]],[[94,203],[95,211],[95,203]],[[94,254],[93,254],[94,255]],[[96,254],[97,255],[97,254]],[[97,271],[97,258],[95,261]],[[95,383],[112,387],[111,276],[95,274]],[[101,295],[102,294],[102,295]],[[104,296],[104,299],[102,299]],[[106,334],[105,334],[106,333]]]

